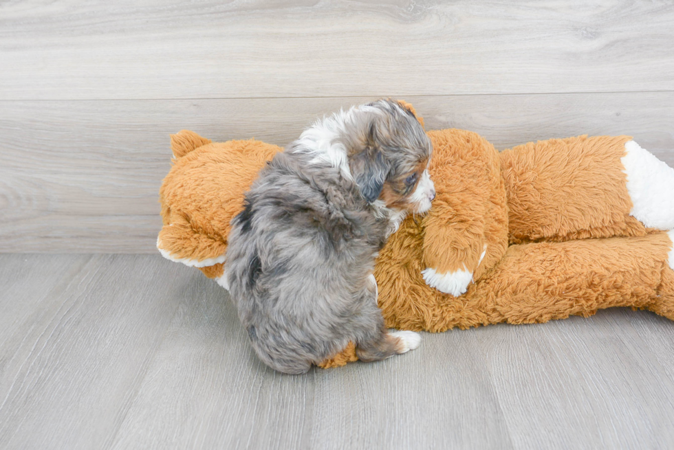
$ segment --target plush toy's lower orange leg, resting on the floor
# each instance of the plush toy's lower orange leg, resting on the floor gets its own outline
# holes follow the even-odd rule
[[[490,322],[589,316],[612,306],[674,320],[674,231],[512,245],[467,295],[487,299]]]

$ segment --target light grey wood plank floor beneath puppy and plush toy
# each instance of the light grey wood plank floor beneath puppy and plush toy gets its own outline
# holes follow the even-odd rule
[[[613,309],[423,333],[286,376],[226,291],[143,255],[1,255],[2,449],[664,449],[674,326]]]

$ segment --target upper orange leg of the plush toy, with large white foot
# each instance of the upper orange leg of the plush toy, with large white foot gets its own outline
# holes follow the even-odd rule
[[[674,228],[674,169],[630,137],[572,137],[501,152],[511,243]]]

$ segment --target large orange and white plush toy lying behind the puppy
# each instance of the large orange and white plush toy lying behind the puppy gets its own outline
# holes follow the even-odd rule
[[[611,306],[674,320],[673,168],[627,136],[550,139],[500,153],[470,131],[428,136],[433,207],[407,217],[377,260],[387,326],[439,332]],[[282,149],[212,143],[190,131],[172,135],[171,148],[157,248],[221,282],[243,192]],[[355,360],[350,344],[321,366]]]

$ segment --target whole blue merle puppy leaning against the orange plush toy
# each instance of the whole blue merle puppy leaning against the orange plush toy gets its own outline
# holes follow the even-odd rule
[[[419,346],[384,327],[373,269],[404,216],[431,207],[431,152],[409,109],[378,100],[319,120],[261,170],[223,280],[265,364],[301,374],[349,341],[362,361]]]

